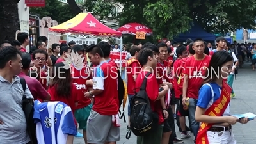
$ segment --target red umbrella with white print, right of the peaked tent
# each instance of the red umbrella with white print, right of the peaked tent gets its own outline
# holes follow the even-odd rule
[[[130,35],[136,35],[136,32],[145,32],[146,35],[152,35],[152,30],[148,28],[147,26],[144,26],[143,24],[138,23],[129,23],[125,24],[124,26],[121,26],[117,29],[117,31],[121,31],[122,34],[130,34]]]

